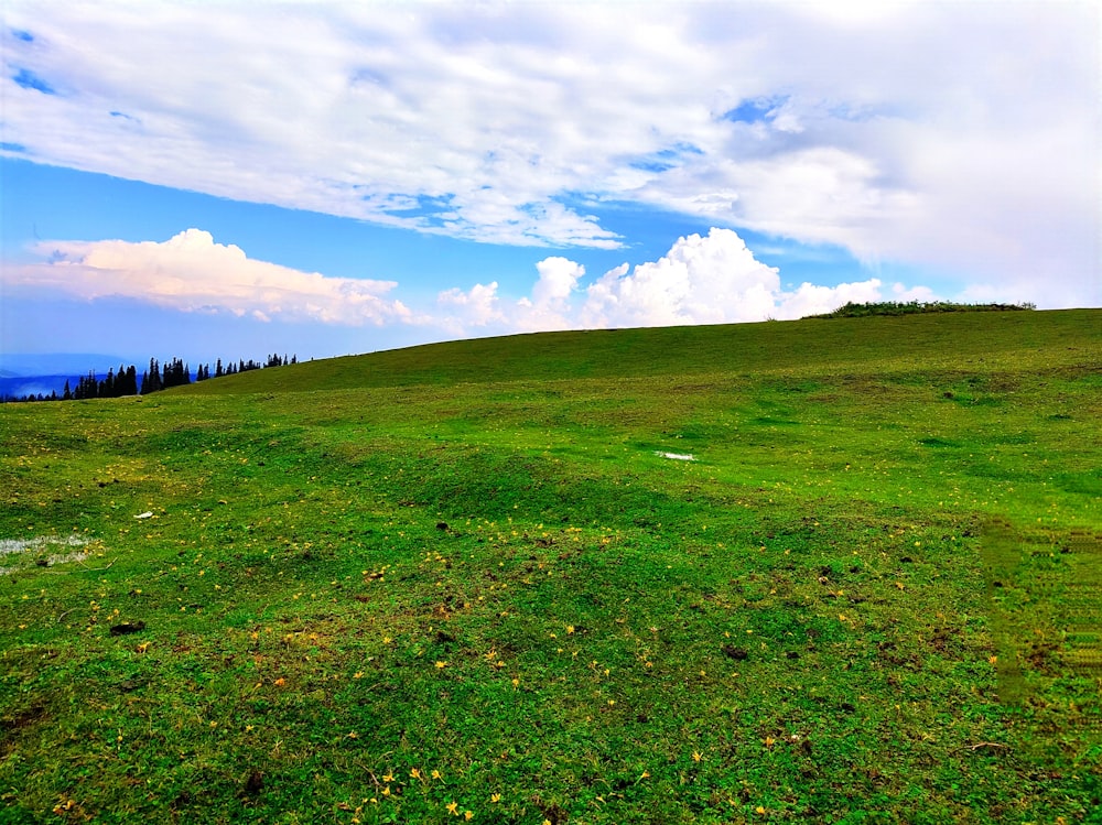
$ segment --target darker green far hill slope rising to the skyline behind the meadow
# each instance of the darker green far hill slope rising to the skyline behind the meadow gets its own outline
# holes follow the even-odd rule
[[[433,344],[258,370],[186,389],[284,392],[458,382],[629,378],[786,369],[1049,366],[1102,346],[1102,311],[959,313],[541,333]]]

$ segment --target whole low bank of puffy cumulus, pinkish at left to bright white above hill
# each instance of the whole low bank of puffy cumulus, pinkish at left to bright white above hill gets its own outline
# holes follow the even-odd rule
[[[800,318],[846,302],[930,301],[926,286],[879,279],[833,286],[781,285],[779,270],[757,260],[737,232],[713,227],[678,238],[666,254],[623,263],[595,279],[563,256],[534,265],[529,294],[503,295],[498,281],[436,294],[432,306],[391,297],[398,283],[331,278],[255,260],[209,232],[187,229],[166,241],[42,241],[40,262],[6,267],[12,297],[127,298],[163,310],[329,327],[399,327],[451,337],[554,329],[730,324]],[[986,290],[988,287],[977,287]],[[984,300],[995,300],[983,294]],[[1024,298],[1023,298],[1024,300]]]

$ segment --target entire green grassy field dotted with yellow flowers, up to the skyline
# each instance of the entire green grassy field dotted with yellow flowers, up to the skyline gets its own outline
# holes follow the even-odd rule
[[[1102,312],[0,408],[0,823],[1102,822]]]

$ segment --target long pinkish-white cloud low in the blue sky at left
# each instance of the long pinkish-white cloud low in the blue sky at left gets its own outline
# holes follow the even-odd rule
[[[187,229],[163,242],[44,241],[47,260],[4,269],[6,289],[95,300],[128,297],[182,312],[325,324],[418,323],[397,283],[327,278],[250,259],[209,232]]]

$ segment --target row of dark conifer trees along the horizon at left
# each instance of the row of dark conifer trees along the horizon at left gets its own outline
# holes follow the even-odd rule
[[[209,363],[201,363],[195,369],[195,380],[196,381],[207,381],[213,378],[223,378],[225,376],[234,376],[238,372],[248,372],[256,369],[264,369],[267,367],[283,367],[290,363],[298,363],[298,356],[291,356],[288,358],[285,355],[280,356],[277,354],[269,355],[267,360],[263,362],[252,360],[238,359],[235,361],[227,361],[223,365],[219,358],[215,362],[214,373],[210,373]],[[4,401],[73,401],[80,399],[94,399],[94,398],[123,398],[125,395],[148,395],[151,392],[158,392],[160,390],[168,390],[170,387],[181,387],[183,384],[190,384],[192,382],[192,371],[187,363],[182,361],[180,358],[173,358],[171,361],[164,361],[159,363],[155,358],[149,359],[149,368],[143,370],[141,373],[141,380],[138,379],[138,368],[133,365],[129,367],[125,365],[119,365],[119,369],[116,372],[114,368],[107,370],[107,374],[104,378],[98,378],[95,371],[88,372],[87,376],[82,376],[77,382],[76,387],[72,386],[72,382],[65,381],[65,389],[61,394],[54,390],[48,395],[44,393],[28,394],[20,398],[6,398]]]

